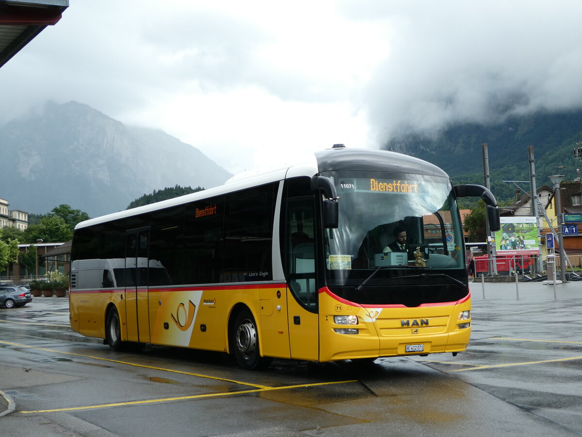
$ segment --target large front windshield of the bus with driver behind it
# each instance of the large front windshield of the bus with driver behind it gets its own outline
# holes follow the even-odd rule
[[[446,288],[452,294],[439,300],[460,297],[459,280],[466,276],[463,231],[447,178],[363,171],[324,175],[335,182],[339,202],[339,227],[325,235],[328,286],[353,290],[374,272],[372,287],[418,287],[430,277],[432,284],[451,285]],[[403,281],[406,276],[417,280]]]

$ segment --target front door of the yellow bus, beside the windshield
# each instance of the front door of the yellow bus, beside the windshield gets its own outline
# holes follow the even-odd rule
[[[318,292],[315,281],[315,209],[313,196],[286,204],[285,277],[289,345],[295,360],[319,360]]]

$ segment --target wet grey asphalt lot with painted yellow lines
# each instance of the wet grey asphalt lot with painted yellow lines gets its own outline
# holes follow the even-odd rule
[[[70,330],[66,298],[35,298],[0,309],[0,409],[15,410],[0,435],[582,435],[582,283],[471,292],[456,357],[265,372],[178,348],[114,353]]]

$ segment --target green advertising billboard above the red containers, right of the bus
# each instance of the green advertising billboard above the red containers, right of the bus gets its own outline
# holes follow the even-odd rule
[[[539,247],[535,217],[501,217],[501,229],[495,232],[498,255],[537,255]]]

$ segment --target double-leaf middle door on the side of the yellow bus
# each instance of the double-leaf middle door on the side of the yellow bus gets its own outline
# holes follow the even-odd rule
[[[150,229],[127,231],[125,245],[125,320],[127,340],[148,343],[148,247]]]

